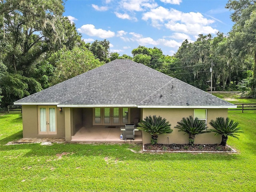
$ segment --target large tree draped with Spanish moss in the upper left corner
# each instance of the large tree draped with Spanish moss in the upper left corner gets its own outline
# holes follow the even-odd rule
[[[64,12],[60,0],[4,0],[0,3],[3,18],[1,33],[10,46],[3,62],[9,72],[25,71],[48,50],[60,47]]]

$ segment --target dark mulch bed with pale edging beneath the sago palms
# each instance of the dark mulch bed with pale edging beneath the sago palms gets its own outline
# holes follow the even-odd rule
[[[144,144],[144,151],[235,152],[229,146],[220,144]]]

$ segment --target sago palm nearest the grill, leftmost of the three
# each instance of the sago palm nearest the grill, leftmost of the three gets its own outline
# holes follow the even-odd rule
[[[171,124],[160,116],[156,117],[155,115],[146,116],[144,120],[141,120],[138,123],[138,129],[143,130],[151,134],[151,144],[157,143],[157,138],[159,134],[171,133]]]

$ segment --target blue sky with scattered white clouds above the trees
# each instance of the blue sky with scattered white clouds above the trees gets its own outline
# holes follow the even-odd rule
[[[228,0],[67,0],[64,16],[85,42],[107,39],[120,56],[139,45],[172,56],[198,34],[227,34],[233,22]]]

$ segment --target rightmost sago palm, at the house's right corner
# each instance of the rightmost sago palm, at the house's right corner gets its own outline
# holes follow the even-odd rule
[[[239,136],[237,133],[241,133],[241,127],[238,127],[238,122],[234,122],[233,120],[230,120],[228,117],[226,120],[224,117],[217,117],[216,120],[211,120],[209,123],[211,126],[213,126],[215,129],[210,129],[212,132],[215,132],[215,135],[221,135],[221,145],[226,146],[228,136],[237,138]]]

